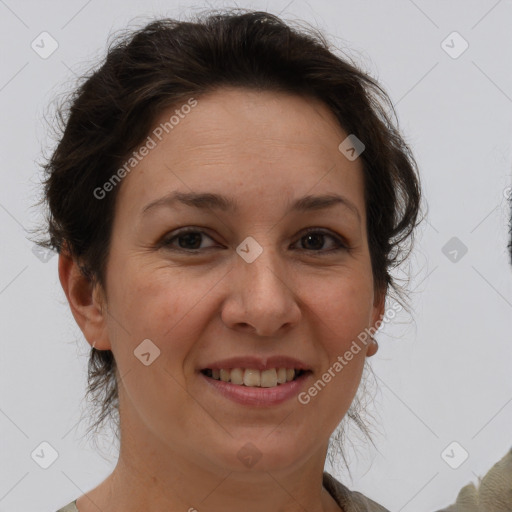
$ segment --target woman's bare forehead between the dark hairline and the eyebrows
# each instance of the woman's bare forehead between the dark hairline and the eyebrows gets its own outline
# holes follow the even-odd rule
[[[161,112],[148,134],[155,146],[124,178],[118,202],[141,209],[172,190],[229,188],[247,204],[338,189],[364,209],[362,164],[339,151],[348,134],[321,101],[237,88],[195,101]]]

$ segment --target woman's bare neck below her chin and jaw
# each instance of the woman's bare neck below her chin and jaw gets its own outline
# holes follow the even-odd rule
[[[126,418],[125,418],[126,419]],[[121,429],[121,449],[112,474],[77,501],[80,512],[112,510],[148,512],[340,512],[322,486],[327,446],[307,454],[294,467],[232,471],[198,464],[179,447]]]

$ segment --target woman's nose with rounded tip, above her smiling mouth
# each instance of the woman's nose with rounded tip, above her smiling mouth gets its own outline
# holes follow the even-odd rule
[[[229,273],[228,297],[221,318],[230,329],[271,337],[297,325],[296,273],[272,250],[265,249],[252,263],[236,256]]]

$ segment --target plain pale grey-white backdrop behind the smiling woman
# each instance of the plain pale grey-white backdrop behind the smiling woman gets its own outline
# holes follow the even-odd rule
[[[512,445],[512,267],[505,189],[512,183],[512,2],[240,1],[239,7],[313,23],[388,91],[417,158],[429,205],[411,260],[412,318],[377,336],[375,443],[347,448],[351,479],[335,476],[393,511],[434,511],[455,500]],[[116,0],[0,0],[0,512],[54,512],[115,466],[82,441],[78,423],[89,346],[57,277],[26,238],[48,147],[43,121],[58,93],[104,55],[108,36],[152,15],[185,19],[234,4]],[[49,32],[42,59],[31,42]],[[457,31],[458,58],[441,46]],[[453,37],[452,37],[453,39]],[[461,41],[453,39],[453,51]],[[442,252],[452,237],[468,252]],[[58,459],[31,458],[46,441]],[[441,457],[457,441],[469,458]],[[108,444],[108,443],[107,443]],[[454,452],[456,455],[456,453]]]

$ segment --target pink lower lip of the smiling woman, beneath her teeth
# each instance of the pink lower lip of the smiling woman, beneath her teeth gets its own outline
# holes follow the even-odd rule
[[[229,398],[233,402],[257,407],[281,404],[297,396],[300,389],[304,387],[305,381],[308,380],[311,375],[311,372],[308,371],[290,382],[278,384],[272,388],[257,388],[212,379],[199,372],[199,376],[221,395]]]

